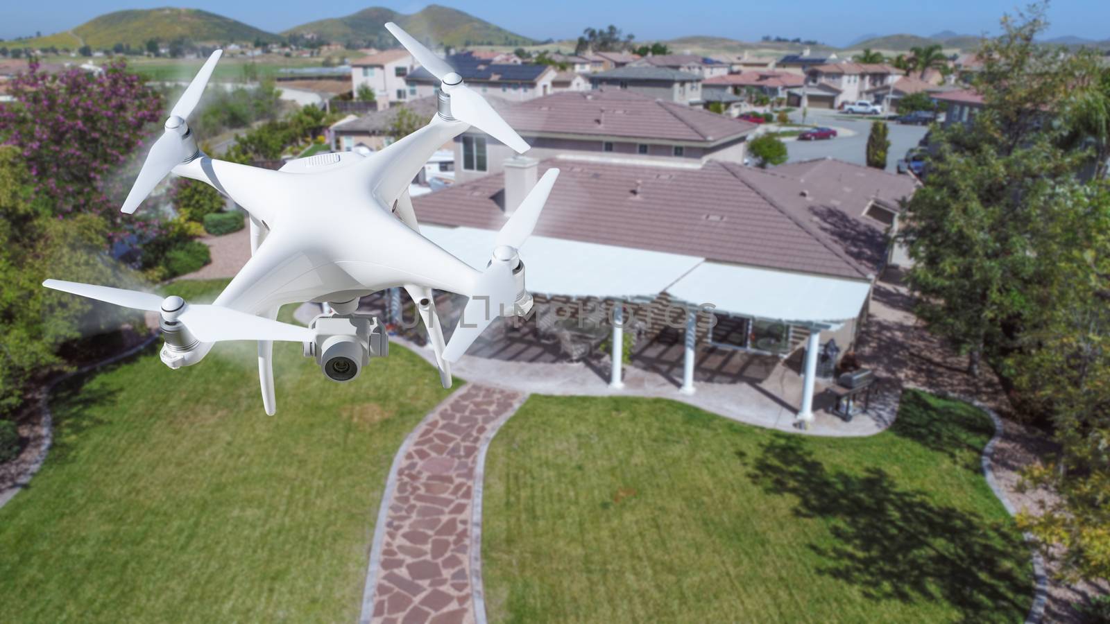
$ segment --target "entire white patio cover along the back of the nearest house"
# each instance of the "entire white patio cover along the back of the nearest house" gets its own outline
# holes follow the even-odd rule
[[[421,225],[432,242],[482,270],[496,232],[478,228]],[[549,236],[532,236],[521,249],[528,290],[598,299],[654,299],[662,292],[717,312],[833,328],[859,315],[870,284],[806,273],[706,262],[663,253]]]

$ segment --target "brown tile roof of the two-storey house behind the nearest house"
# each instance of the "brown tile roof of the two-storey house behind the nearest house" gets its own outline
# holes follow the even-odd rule
[[[502,112],[517,132],[588,134],[707,142],[740,137],[756,125],[727,115],[625,90],[564,91]]]

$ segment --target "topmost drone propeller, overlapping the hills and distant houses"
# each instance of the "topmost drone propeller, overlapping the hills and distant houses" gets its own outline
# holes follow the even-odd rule
[[[458,76],[447,61],[435,56],[400,26],[389,22],[385,28],[401,41],[420,64],[424,66],[424,69],[440,79],[443,92],[451,95],[451,117],[477,128],[518,153],[528,151],[528,144],[524,139],[497,114],[497,111],[493,110],[490,102],[463,83],[463,77]]]

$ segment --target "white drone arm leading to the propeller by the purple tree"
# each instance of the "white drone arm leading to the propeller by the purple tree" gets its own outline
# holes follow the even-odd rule
[[[173,168],[173,172],[210,184],[260,223],[273,225],[278,217],[273,207],[279,202],[274,200],[282,197],[285,187],[285,177],[278,171],[201,154]]]

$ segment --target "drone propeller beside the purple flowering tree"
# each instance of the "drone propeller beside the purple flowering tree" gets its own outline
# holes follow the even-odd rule
[[[173,104],[170,119],[165,120],[165,132],[158,138],[158,141],[154,141],[142,164],[142,170],[139,171],[139,178],[135,179],[131,192],[128,193],[128,199],[123,202],[121,210],[127,214],[133,213],[139,204],[147,199],[147,195],[154,190],[154,187],[173,171],[174,167],[196,155],[196,141],[193,139],[185,120],[192,114],[196,103],[201,101],[204,87],[208,84],[209,78],[212,77],[212,71],[222,53],[223,50],[212,52],[196,77],[185,88],[181,99],[178,100],[176,104]]]

